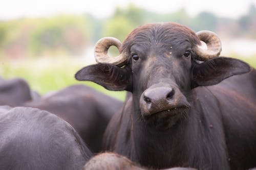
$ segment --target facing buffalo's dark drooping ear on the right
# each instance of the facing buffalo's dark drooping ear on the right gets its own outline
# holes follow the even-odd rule
[[[233,75],[250,71],[250,66],[238,59],[218,57],[201,64],[193,62],[191,87],[209,86],[220,83]]]

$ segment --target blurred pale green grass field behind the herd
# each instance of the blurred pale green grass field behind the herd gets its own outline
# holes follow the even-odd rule
[[[256,68],[256,56],[234,57]],[[85,65],[87,63],[83,63],[81,59],[68,57],[2,60],[0,61],[0,75],[8,79],[24,78],[31,89],[40,94],[59,90],[72,84],[86,84],[121,101],[125,99],[125,91],[109,91],[92,82],[76,81],[74,78],[76,71]]]

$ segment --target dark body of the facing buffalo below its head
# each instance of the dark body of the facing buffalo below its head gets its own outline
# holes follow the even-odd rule
[[[215,86],[193,89],[193,105],[187,117],[173,129],[163,132],[145,126],[138,115],[133,114],[131,97],[122,114],[117,113],[111,119],[105,132],[104,148],[144,166],[150,164],[158,168],[253,167],[256,160],[256,90],[248,89],[256,87],[255,76],[253,70]]]

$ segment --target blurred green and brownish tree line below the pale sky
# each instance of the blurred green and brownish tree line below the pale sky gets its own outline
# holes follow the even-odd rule
[[[111,17],[103,19],[84,14],[0,21],[0,56],[78,55],[101,37],[113,36],[123,41],[140,25],[165,21],[181,23],[194,31],[211,30],[228,37],[256,38],[254,5],[246,15],[230,19],[210,12],[191,17],[184,9],[158,14],[130,4],[125,9],[117,7]]]

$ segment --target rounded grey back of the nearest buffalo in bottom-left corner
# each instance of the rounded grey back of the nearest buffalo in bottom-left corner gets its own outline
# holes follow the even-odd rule
[[[91,151],[70,124],[47,111],[0,107],[0,169],[82,169]]]

